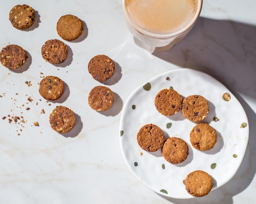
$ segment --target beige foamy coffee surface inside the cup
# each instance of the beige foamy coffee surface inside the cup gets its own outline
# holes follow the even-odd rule
[[[126,0],[133,21],[156,34],[181,30],[191,22],[197,7],[197,0]]]

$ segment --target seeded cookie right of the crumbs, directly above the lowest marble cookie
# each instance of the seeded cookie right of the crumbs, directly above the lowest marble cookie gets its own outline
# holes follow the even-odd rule
[[[40,81],[39,93],[46,100],[59,99],[65,90],[63,81],[54,76],[47,76]]]

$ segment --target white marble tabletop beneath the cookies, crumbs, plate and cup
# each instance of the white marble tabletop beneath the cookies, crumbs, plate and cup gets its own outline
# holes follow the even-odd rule
[[[29,31],[14,29],[8,20],[11,8],[23,3],[36,11],[37,20]],[[255,0],[204,0],[189,35],[170,51],[151,55],[133,43],[121,0],[2,4],[0,47],[18,44],[29,59],[16,71],[0,67],[1,203],[255,203],[255,7]],[[83,20],[84,32],[75,42],[65,42],[68,57],[54,66],[43,60],[40,48],[48,39],[60,39],[56,22],[65,14]],[[98,54],[116,63],[115,75],[105,83],[92,79],[87,70],[89,60]],[[234,178],[205,197],[189,200],[163,197],[141,184],[128,169],[119,145],[119,120],[130,93],[148,79],[179,68],[201,70],[222,82],[243,105],[250,131]],[[65,81],[65,94],[54,103],[47,103],[38,93],[38,83],[46,75]],[[110,110],[99,113],[88,106],[87,98],[94,86],[102,84],[115,92],[116,100]],[[29,96],[32,102],[27,101]],[[56,105],[75,112],[76,125],[70,133],[58,134],[49,126],[49,113]],[[45,114],[40,114],[42,108]],[[23,116],[25,123],[2,120],[8,114]],[[40,126],[34,126],[34,121]]]

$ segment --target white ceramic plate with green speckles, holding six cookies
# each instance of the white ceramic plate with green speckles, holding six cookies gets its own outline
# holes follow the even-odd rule
[[[216,129],[218,139],[213,149],[202,152],[191,146],[189,133],[196,123],[185,119],[181,111],[174,116],[157,112],[154,105],[156,94],[170,87],[183,98],[199,94],[208,100],[210,111],[203,122]],[[230,96],[230,100],[224,100],[223,94]],[[214,120],[214,117],[219,120]],[[185,140],[189,146],[188,158],[173,165],[163,158],[161,149],[153,153],[142,150],[137,144],[137,132],[148,123],[159,126],[165,138],[175,136]],[[249,139],[247,124],[242,105],[222,83],[200,71],[177,69],[147,81],[132,92],[121,114],[121,150],[132,173],[148,188],[167,197],[191,198],[183,184],[190,172],[202,170],[209,173],[213,178],[212,190],[235,175]]]

